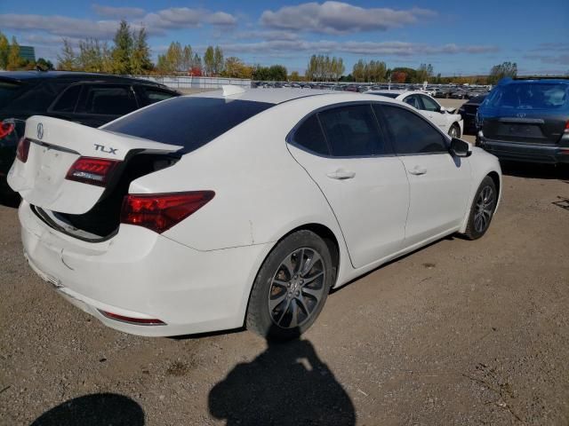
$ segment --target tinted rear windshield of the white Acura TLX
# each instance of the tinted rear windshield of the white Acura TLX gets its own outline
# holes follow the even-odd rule
[[[194,151],[273,104],[250,100],[180,97],[137,111],[104,130]]]

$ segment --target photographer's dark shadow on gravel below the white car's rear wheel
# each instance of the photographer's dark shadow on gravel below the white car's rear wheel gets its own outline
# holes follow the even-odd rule
[[[213,417],[228,426],[354,425],[356,411],[308,340],[268,347],[251,362],[238,364],[213,386]]]

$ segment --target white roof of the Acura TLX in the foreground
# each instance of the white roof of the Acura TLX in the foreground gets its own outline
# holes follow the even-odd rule
[[[239,99],[255,102],[265,102],[268,104],[282,104],[283,102],[307,98],[309,96],[319,96],[324,94],[339,94],[338,91],[312,91],[307,89],[245,89],[241,93],[223,96],[223,90],[205,91],[188,95],[196,98],[218,98],[218,99]]]

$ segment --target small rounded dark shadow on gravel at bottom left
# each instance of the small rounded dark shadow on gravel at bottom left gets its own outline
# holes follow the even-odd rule
[[[31,426],[144,426],[144,411],[131,398],[95,393],[73,398],[40,415]]]

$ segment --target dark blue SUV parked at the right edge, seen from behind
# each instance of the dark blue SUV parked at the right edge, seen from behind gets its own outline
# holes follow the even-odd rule
[[[569,78],[502,80],[477,126],[477,143],[501,159],[569,163]]]

